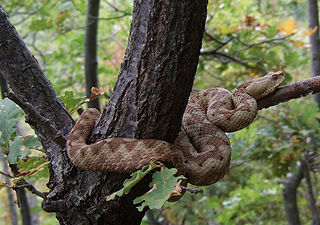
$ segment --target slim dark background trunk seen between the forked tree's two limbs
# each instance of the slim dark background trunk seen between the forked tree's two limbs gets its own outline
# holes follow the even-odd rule
[[[97,38],[99,5],[100,0],[88,0],[87,20],[84,36],[84,68],[87,97],[90,97],[92,87],[98,87]],[[88,103],[88,107],[100,110],[99,99],[90,101]]]

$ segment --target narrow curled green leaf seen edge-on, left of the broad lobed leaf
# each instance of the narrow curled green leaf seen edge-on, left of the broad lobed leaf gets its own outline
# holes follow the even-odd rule
[[[131,174],[130,179],[126,179],[123,182],[123,188],[119,191],[114,192],[108,196],[106,196],[107,201],[113,200],[116,196],[121,197],[124,194],[128,194],[132,187],[134,187],[143,177],[145,177],[148,173],[150,173],[153,169],[159,168],[160,165],[156,163],[151,163],[150,165],[146,165],[142,167],[140,170],[135,171]]]

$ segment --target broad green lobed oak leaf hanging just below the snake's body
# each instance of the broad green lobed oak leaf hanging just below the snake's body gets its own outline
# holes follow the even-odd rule
[[[148,206],[150,209],[160,209],[169,199],[172,191],[175,190],[175,185],[183,176],[175,177],[177,169],[162,168],[161,171],[155,172],[152,175],[152,182],[149,184],[151,189],[144,195],[137,197],[133,203],[138,204],[138,210],[142,211]]]

